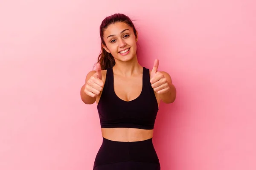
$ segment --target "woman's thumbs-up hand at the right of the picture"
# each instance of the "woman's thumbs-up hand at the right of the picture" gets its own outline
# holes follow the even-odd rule
[[[150,83],[157,94],[163,94],[169,91],[170,87],[167,78],[160,71],[157,71],[159,60],[155,59],[154,66],[150,74]]]

